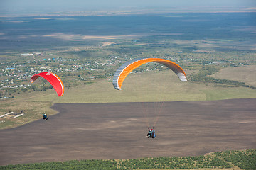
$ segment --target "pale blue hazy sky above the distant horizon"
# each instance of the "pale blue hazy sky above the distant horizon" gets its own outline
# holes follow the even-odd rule
[[[256,0],[0,0],[3,13],[28,11],[57,12],[107,10],[119,8],[193,8],[193,7],[255,7]]]

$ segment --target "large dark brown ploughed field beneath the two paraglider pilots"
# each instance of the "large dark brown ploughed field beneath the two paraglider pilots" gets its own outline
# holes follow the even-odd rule
[[[153,103],[147,103],[152,111]],[[166,102],[156,138],[139,103],[55,103],[59,113],[0,130],[1,165],[198,156],[255,148],[255,99]],[[149,112],[149,125],[154,115]]]

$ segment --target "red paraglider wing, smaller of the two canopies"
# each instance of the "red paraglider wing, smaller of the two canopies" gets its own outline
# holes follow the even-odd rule
[[[33,83],[38,77],[43,77],[47,81],[49,81],[49,83],[53,86],[53,88],[57,92],[58,96],[63,96],[64,86],[60,77],[58,77],[56,74],[52,72],[41,72],[31,77],[31,83]]]

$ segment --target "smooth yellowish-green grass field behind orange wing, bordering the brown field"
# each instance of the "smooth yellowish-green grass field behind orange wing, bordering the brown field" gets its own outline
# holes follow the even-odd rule
[[[187,72],[189,74],[189,72]],[[112,81],[102,80],[95,84],[67,89],[54,103],[114,103],[138,101],[206,101],[228,98],[255,98],[253,89],[224,88],[179,81],[169,70],[130,74],[117,91]]]

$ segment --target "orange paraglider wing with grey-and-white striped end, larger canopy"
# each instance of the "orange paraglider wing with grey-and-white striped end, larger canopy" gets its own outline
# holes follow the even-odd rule
[[[132,70],[148,62],[158,62],[160,64],[164,64],[166,67],[169,67],[169,69],[174,71],[181,81],[187,81],[184,70],[175,62],[171,62],[170,60],[165,60],[161,58],[144,57],[130,60],[129,62],[122,64],[122,66],[117,69],[117,72],[115,72],[113,77],[114,88],[117,90],[121,90],[122,83],[124,79],[128,76],[128,74],[132,72]]]

